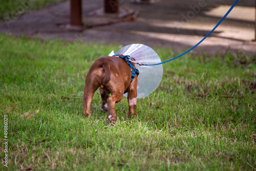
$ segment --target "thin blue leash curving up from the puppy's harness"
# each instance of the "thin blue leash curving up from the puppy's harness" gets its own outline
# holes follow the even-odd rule
[[[239,0],[236,0],[236,2],[234,2],[234,4],[230,7],[230,9],[227,11],[227,13],[221,18],[221,20],[219,21],[219,23],[214,27],[214,29],[212,29],[201,41],[199,41],[194,47],[190,48],[189,50],[187,50],[186,52],[172,58],[172,59],[169,59],[169,60],[166,60],[164,62],[160,62],[160,63],[155,63],[155,64],[143,64],[143,63],[140,63],[139,65],[141,66],[156,66],[156,65],[161,65],[162,63],[166,63],[166,62],[169,62],[171,60],[174,60],[178,57],[181,57],[183,56],[184,54],[190,52],[191,50],[195,49],[199,44],[201,44],[202,41],[204,41],[204,39],[206,39],[212,32],[215,31],[215,29],[221,24],[221,22],[223,22],[223,20],[227,17],[227,15],[230,13],[230,11],[234,8],[234,6],[237,5],[237,3],[239,2]]]

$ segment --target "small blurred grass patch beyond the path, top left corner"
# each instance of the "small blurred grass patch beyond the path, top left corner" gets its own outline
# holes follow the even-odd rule
[[[31,10],[36,10],[61,1],[66,0],[1,0],[0,21],[7,22]]]

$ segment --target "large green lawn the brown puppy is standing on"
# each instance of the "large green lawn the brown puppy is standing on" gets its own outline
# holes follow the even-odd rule
[[[161,88],[137,100],[138,118],[127,117],[123,98],[112,127],[99,110],[99,94],[90,120],[82,117],[80,96],[92,62],[118,45],[8,35],[0,35],[0,44],[0,122],[8,116],[9,170],[256,169],[255,57],[185,55],[168,62]],[[176,55],[154,49],[162,61]],[[1,129],[1,158],[4,136]]]

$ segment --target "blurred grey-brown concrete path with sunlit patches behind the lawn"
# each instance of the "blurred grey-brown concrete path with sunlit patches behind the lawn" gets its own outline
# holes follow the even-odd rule
[[[82,32],[60,27],[69,23],[69,2],[63,2],[3,22],[0,24],[0,32],[17,36],[40,36],[42,39],[117,43],[123,46],[141,43],[183,52],[214,28],[233,2],[161,0],[154,5],[136,5],[119,0],[121,10],[134,10],[137,15],[133,21],[123,21],[114,16],[93,14],[93,11],[103,7],[103,0],[84,0],[83,23],[88,28]],[[255,1],[240,0],[220,27],[191,53],[218,54],[230,51],[256,56],[256,42],[251,41],[254,39],[254,20]]]

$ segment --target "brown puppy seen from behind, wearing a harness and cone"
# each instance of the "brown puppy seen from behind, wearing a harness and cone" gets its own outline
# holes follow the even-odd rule
[[[83,94],[83,116],[91,117],[91,101],[95,91],[100,88],[101,110],[108,111],[108,118],[112,124],[116,124],[117,120],[115,103],[119,102],[126,92],[128,93],[129,103],[128,116],[136,117],[137,74],[132,82],[131,78],[131,68],[118,56],[103,56],[93,62],[86,76],[86,86]]]

